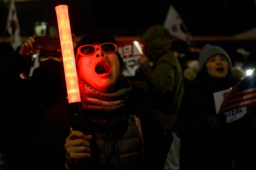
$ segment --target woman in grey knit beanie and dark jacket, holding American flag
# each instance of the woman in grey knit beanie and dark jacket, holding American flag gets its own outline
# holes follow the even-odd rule
[[[216,113],[213,93],[238,82],[231,74],[229,55],[219,46],[204,45],[199,54],[199,67],[196,79],[185,81],[177,118],[180,169],[229,169],[231,143],[226,135],[226,117]]]

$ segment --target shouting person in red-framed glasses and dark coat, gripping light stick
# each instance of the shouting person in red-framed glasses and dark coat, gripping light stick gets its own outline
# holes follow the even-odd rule
[[[37,169],[164,169],[171,133],[130,104],[117,42],[91,31],[75,47],[83,123],[73,129],[64,97],[49,107],[36,136]]]

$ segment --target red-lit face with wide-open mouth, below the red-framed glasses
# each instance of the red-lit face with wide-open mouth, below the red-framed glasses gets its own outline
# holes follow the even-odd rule
[[[94,89],[114,91],[120,77],[120,64],[116,54],[105,54],[98,49],[89,57],[79,57],[78,76]]]

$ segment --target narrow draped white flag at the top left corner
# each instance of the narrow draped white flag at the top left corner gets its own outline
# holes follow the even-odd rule
[[[10,42],[12,48],[16,50],[22,44],[20,37],[20,25],[18,23],[17,11],[15,8],[14,0],[11,0],[9,6],[9,14],[7,18],[7,31],[10,35]]]

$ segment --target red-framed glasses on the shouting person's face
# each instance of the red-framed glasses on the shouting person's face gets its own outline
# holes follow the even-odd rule
[[[114,54],[117,51],[117,45],[112,42],[105,42],[101,45],[82,45],[78,47],[77,53],[81,56],[91,56],[94,55],[100,49],[105,54]]]

